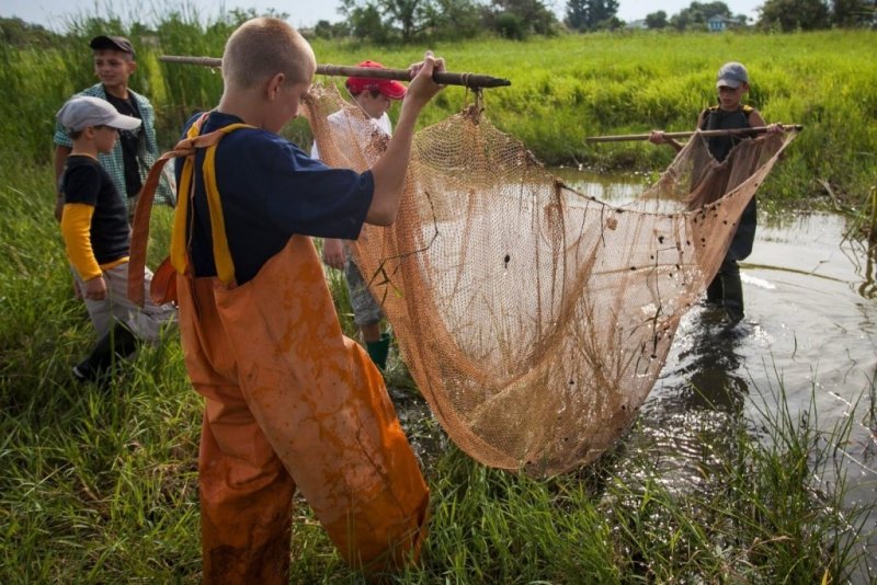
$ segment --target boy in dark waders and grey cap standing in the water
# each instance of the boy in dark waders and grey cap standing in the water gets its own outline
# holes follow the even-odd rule
[[[758,110],[742,103],[743,95],[749,91],[749,73],[742,64],[731,61],[722,65],[716,76],[716,89],[719,103],[701,112],[697,117],[698,129],[729,130],[766,125]],[[767,131],[782,133],[783,127],[779,124],[773,124]],[[721,162],[737,142],[747,139],[749,138],[739,135],[713,136],[707,138],[707,144],[713,158]],[[660,130],[652,130],[649,140],[656,145],[670,145],[676,151],[682,150],[680,142],[672,138],[665,138],[664,133]],[[752,197],[743,209],[737,232],[721,262],[719,272],[709,283],[706,291],[707,302],[722,307],[732,325],[743,319],[743,285],[740,282],[740,266],[737,262],[744,260],[752,252],[756,220],[755,197]]]

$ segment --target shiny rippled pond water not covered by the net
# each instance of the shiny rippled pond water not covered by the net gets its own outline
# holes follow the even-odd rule
[[[637,196],[636,177],[605,182],[588,173],[557,172],[573,188],[613,204]],[[785,400],[835,445],[846,473],[847,505],[877,496],[877,299],[866,246],[845,238],[839,215],[762,214],[752,254],[741,263],[745,318],[731,331],[714,310],[694,307],[683,318],[667,365],[625,438],[661,459],[662,475],[680,487],[703,481],[704,437],[720,436],[728,418],[758,421]],[[838,441],[832,433],[850,424]],[[834,435],[836,437],[836,435]],[[818,486],[836,478],[829,470]],[[865,523],[877,528],[877,518]],[[863,535],[864,536],[864,535]],[[864,538],[877,566],[877,537]],[[866,582],[863,577],[863,582]]]

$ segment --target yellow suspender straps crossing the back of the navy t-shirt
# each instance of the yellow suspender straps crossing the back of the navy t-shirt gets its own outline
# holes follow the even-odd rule
[[[204,181],[205,191],[207,192],[207,206],[210,214],[214,262],[216,263],[217,276],[224,284],[230,284],[235,280],[235,264],[231,261],[231,252],[228,248],[225,218],[223,217],[223,205],[219,197],[219,190],[216,186],[216,146],[223,136],[240,128],[252,128],[252,126],[247,124],[229,124],[228,126],[219,128],[215,133],[210,133],[210,135],[216,135],[216,139],[212,140],[212,144],[207,146],[207,152],[204,157],[204,165],[202,168],[202,177]],[[200,131],[201,124],[196,123],[192,125],[186,136],[187,138],[193,139],[198,136]],[[185,237],[186,227],[189,225],[189,206],[191,204],[192,190],[194,187],[194,174],[195,156],[193,152],[186,157],[185,162],[183,163],[183,172],[180,177],[179,200],[176,202],[176,210],[173,215],[171,263],[180,274],[185,273],[187,267],[189,246]]]

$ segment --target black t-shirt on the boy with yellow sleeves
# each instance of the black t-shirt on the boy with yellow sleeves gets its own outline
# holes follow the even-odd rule
[[[98,264],[127,256],[130,248],[128,211],[101,163],[80,154],[67,157],[61,188],[65,204],[80,203],[94,207],[90,237]]]

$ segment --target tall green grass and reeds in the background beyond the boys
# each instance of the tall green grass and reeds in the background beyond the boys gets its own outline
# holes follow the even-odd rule
[[[0,146],[37,163],[47,162],[52,116],[73,91],[93,82],[87,39],[54,49],[0,46],[0,124],[13,141]],[[230,25],[158,23],[138,38],[139,70],[133,85],[152,97],[164,147],[194,110],[213,106],[221,91],[218,72],[160,64],[170,55],[220,56]],[[692,129],[697,113],[715,102],[714,76],[726,60],[747,64],[749,102],[768,122],[802,124],[805,130],[765,187],[785,202],[824,198],[822,182],[846,205],[863,207],[877,164],[877,61],[875,33],[829,31],[801,34],[593,34],[438,44],[433,48],[456,71],[488,72],[512,87],[489,90],[487,114],[549,164],[583,163],[637,171],[662,169],[671,149],[648,142],[585,144],[594,135]],[[321,62],[355,64],[378,58],[405,67],[423,47],[373,47],[315,42]],[[429,124],[458,111],[470,96],[448,89],[423,116]],[[21,124],[26,121],[26,124]],[[305,124],[289,128],[309,141]]]

